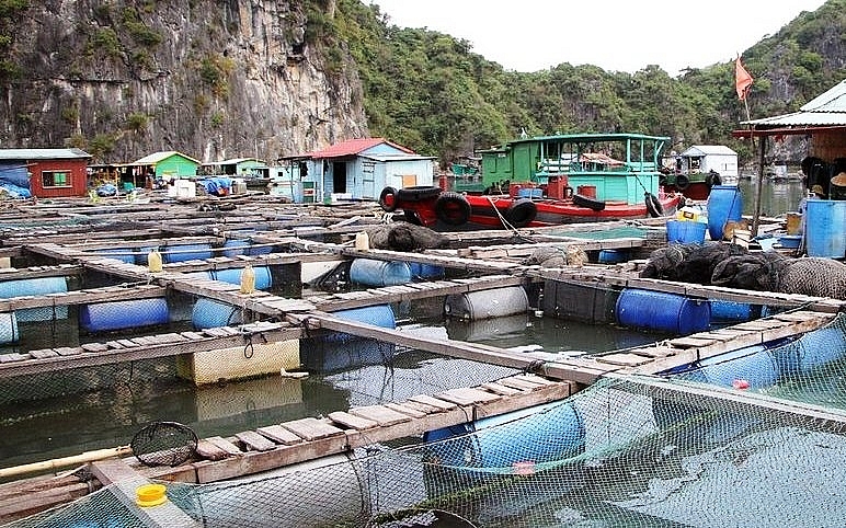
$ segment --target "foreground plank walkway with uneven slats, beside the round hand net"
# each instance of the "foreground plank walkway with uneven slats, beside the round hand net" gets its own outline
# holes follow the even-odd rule
[[[403,402],[338,411],[325,418],[272,424],[229,438],[203,438],[197,446],[201,461],[176,468],[133,467],[151,479],[216,482],[562,400],[574,389],[568,381],[518,375]]]

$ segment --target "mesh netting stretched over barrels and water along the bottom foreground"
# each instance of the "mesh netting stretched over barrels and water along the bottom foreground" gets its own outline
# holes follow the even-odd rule
[[[187,516],[204,527],[843,526],[845,335],[838,317],[768,348],[782,358],[774,384],[720,387],[690,369],[605,378],[563,401],[430,432],[402,446],[373,443],[213,484],[165,483],[176,506],[170,520]],[[140,526],[137,508],[119,495],[108,486],[10,526]]]

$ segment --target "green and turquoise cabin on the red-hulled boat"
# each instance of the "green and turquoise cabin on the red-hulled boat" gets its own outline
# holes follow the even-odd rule
[[[483,150],[487,192],[537,186],[549,198],[576,193],[603,202],[640,204],[659,194],[661,152],[667,137],[570,134],[522,138]]]

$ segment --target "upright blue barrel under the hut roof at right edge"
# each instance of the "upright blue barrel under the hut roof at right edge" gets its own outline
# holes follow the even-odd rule
[[[804,227],[808,256],[843,259],[846,255],[845,200],[807,200]]]

